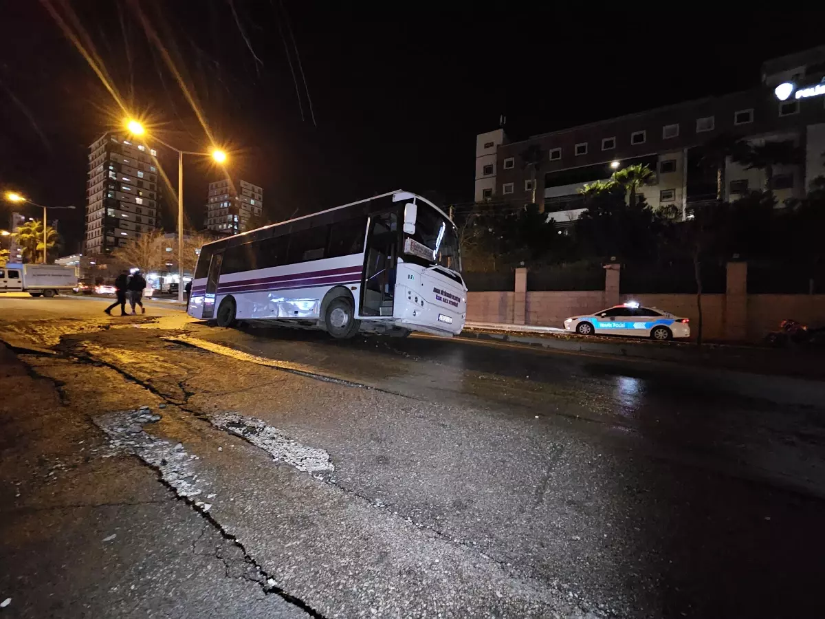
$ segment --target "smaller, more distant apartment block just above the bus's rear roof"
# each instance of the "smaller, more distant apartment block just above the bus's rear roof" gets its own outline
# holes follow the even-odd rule
[[[252,229],[248,224],[263,208],[263,189],[251,182],[229,178],[210,182],[206,198],[206,229],[219,234],[238,234]]]

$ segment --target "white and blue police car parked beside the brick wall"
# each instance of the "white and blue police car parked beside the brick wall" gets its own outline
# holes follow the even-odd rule
[[[662,309],[642,307],[635,301],[614,305],[595,314],[573,316],[564,321],[564,328],[579,335],[635,335],[660,342],[691,337],[688,319]]]

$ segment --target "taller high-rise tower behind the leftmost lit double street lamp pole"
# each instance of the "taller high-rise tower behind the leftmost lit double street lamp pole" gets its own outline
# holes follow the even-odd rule
[[[89,147],[84,253],[111,253],[160,228],[156,155],[116,131]]]

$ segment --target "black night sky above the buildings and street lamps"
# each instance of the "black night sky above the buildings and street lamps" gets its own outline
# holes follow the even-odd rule
[[[159,136],[181,149],[208,149],[147,38],[143,13],[216,140],[229,145],[233,177],[264,187],[273,220],[400,187],[471,201],[475,135],[495,129],[501,114],[520,139],[732,92],[759,82],[762,60],[825,42],[813,15],[697,9],[699,20],[676,17],[671,7],[639,17],[639,5],[629,20],[513,12],[506,3],[450,11],[404,5],[403,12],[386,3],[351,12],[279,0],[2,0],[0,189],[78,206],[55,214],[64,253],[82,240],[87,147],[122,114],[47,3],[92,41],[127,106],[148,115]],[[177,159],[162,163],[177,182]],[[220,176],[204,160],[186,159],[186,218],[198,229],[206,183]],[[172,230],[172,206],[164,211]],[[8,212],[3,204],[0,227]]]

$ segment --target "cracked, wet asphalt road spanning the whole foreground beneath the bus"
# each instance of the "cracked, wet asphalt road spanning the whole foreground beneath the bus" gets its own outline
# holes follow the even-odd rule
[[[821,612],[825,411],[643,362],[105,305],[0,298],[10,616]],[[118,413],[142,404],[162,418]]]

